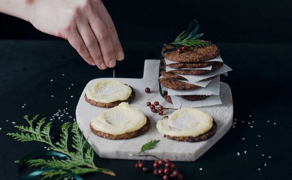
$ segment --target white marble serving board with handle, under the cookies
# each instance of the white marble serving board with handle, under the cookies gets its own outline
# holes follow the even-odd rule
[[[144,159],[144,157],[137,156],[140,148],[150,140],[156,139],[160,140],[157,147],[146,153],[156,155],[163,159],[169,158],[172,161],[196,161],[210,147],[219,141],[232,126],[233,102],[231,89],[228,84],[220,82],[220,98],[222,104],[199,108],[209,113],[217,122],[216,134],[212,138],[198,143],[178,142],[164,138],[157,131],[156,123],[164,115],[170,115],[173,110],[165,111],[164,115],[161,116],[158,115],[158,113],[152,113],[150,108],[146,106],[146,102],[148,101],[152,103],[154,101],[159,101],[164,107],[172,107],[172,104],[166,102],[159,94],[158,68],[159,60],[146,60],[142,79],[115,78],[125,84],[129,84],[135,89],[136,97],[130,105],[145,113],[151,121],[151,127],[148,131],[138,137],[128,140],[104,139],[96,136],[89,128],[91,117],[99,115],[107,109],[95,107],[86,102],[84,98],[86,89],[95,82],[111,78],[94,79],[85,86],[76,108],[76,120],[84,136],[86,138],[89,137],[89,142],[99,157],[110,159]],[[145,93],[146,87],[151,89],[149,94]],[[150,160],[151,158],[148,159]]]

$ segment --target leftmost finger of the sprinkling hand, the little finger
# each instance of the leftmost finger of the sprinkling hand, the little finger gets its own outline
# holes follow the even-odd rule
[[[74,28],[68,35],[68,41],[71,46],[77,50],[80,56],[90,65],[95,65],[91,55],[76,28]]]

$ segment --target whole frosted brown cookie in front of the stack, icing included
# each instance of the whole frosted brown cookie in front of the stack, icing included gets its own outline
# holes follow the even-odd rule
[[[196,108],[184,108],[164,116],[156,124],[157,130],[166,138],[198,142],[216,133],[217,124],[207,113]]]

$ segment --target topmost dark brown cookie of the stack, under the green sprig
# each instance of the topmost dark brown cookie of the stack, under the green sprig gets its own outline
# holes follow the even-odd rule
[[[202,40],[203,41],[203,40]],[[169,45],[166,46],[166,49],[173,48]],[[164,51],[165,48],[162,49]],[[202,46],[199,48],[189,48],[188,50],[178,53],[176,50],[165,52],[164,57],[175,62],[180,63],[196,63],[201,61],[207,61],[213,58],[216,58],[220,54],[220,49],[215,45],[211,44],[210,46]]]

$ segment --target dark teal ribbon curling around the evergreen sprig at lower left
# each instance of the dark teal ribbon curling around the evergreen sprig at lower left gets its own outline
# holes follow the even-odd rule
[[[54,167],[54,168],[43,168],[43,169],[38,169],[36,171],[31,172],[30,174],[26,175],[26,176],[22,176],[21,175],[21,169],[23,168],[23,166],[26,164],[27,160],[29,159],[35,159],[38,157],[42,157],[42,156],[58,156],[60,158],[66,158],[67,160],[71,160],[71,158],[69,156],[67,156],[66,154],[60,153],[60,152],[56,152],[53,150],[46,150],[46,151],[37,151],[34,153],[31,153],[27,156],[24,156],[18,163],[17,165],[17,172],[18,175],[20,176],[21,179],[31,179],[31,178],[35,178],[39,175],[42,175],[43,173],[50,171],[50,170],[63,170],[66,171],[67,173],[69,173],[75,180],[83,180],[80,176],[78,176],[77,174],[72,173],[71,171],[62,169],[62,168],[58,168],[58,167]]]

